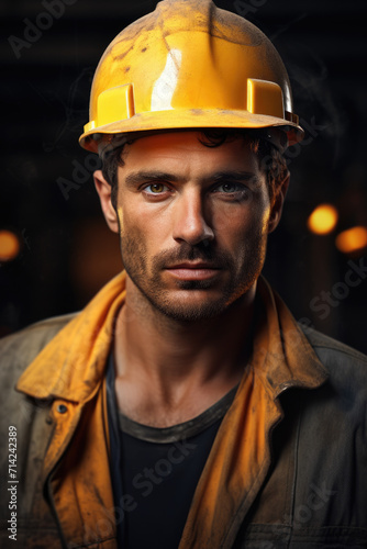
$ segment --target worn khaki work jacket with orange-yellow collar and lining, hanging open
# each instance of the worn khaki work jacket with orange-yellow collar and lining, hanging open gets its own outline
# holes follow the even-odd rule
[[[1,547],[116,548],[127,511],[112,496],[104,371],[123,301],[124,273],[81,313],[0,341]],[[303,334],[264,279],[257,302],[179,549],[367,547],[367,359]]]

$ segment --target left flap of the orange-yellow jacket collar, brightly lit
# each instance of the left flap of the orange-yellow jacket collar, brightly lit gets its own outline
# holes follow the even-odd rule
[[[113,278],[31,362],[16,390],[35,399],[86,402],[103,379],[125,272]]]

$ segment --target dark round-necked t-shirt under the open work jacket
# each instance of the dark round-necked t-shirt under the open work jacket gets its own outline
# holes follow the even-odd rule
[[[148,427],[118,412],[114,368],[108,369],[111,478],[119,547],[175,549],[193,492],[237,386],[198,417]]]

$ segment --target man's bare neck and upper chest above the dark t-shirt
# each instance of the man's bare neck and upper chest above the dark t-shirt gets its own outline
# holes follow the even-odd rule
[[[158,427],[188,421],[240,382],[251,352],[255,287],[218,317],[180,322],[130,284],[115,325],[119,408]]]

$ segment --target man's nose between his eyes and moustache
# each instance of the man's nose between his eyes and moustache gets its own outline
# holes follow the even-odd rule
[[[205,211],[207,210],[207,211]],[[208,208],[205,209],[204,198],[197,189],[184,192],[177,199],[174,215],[175,240],[185,240],[194,246],[203,240],[214,238],[213,228],[210,226]]]

